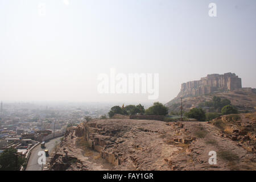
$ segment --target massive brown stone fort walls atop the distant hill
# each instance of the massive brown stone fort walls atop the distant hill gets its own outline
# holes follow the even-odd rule
[[[201,80],[181,84],[178,97],[201,96],[239,88],[242,88],[242,81],[235,73],[225,73],[224,75],[212,74],[201,78]]]

